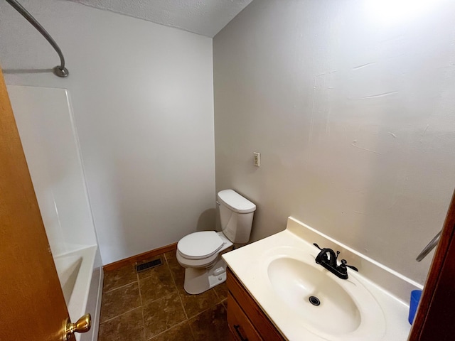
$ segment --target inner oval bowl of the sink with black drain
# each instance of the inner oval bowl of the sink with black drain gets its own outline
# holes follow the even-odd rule
[[[333,274],[297,259],[281,257],[269,264],[274,291],[295,314],[314,328],[331,334],[352,332],[360,312]]]

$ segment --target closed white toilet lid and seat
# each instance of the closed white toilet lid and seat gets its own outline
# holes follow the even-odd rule
[[[206,259],[217,254],[223,244],[215,231],[193,232],[178,241],[177,250],[186,259]]]

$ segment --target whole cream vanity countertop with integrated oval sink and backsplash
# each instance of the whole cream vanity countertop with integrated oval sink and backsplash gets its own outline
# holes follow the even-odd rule
[[[320,250],[313,243],[340,251],[358,272],[347,269],[342,279],[316,264]],[[294,218],[284,231],[223,258],[286,340],[407,340],[409,306],[403,302],[415,286]]]

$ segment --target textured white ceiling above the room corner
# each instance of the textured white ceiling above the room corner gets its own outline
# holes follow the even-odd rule
[[[69,0],[213,38],[252,0]]]

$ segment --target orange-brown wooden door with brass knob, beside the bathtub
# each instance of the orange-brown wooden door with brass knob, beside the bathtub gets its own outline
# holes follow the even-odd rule
[[[68,310],[1,69],[0,276],[0,341],[61,341]]]

